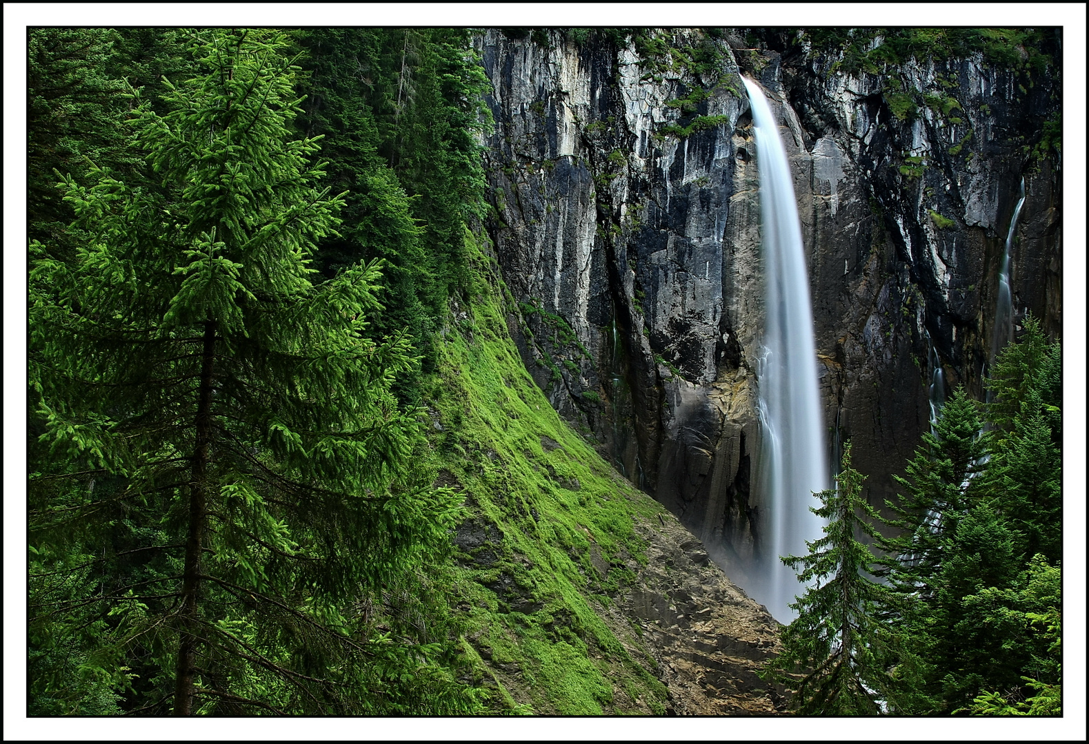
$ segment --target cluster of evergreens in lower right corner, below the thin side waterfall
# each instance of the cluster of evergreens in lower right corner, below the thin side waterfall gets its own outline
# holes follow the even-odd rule
[[[886,522],[896,534],[877,541],[874,571],[891,590],[879,616],[897,641],[894,712],[1059,705],[1060,361],[1026,319],[994,364],[983,419],[954,393],[897,479],[906,494]]]

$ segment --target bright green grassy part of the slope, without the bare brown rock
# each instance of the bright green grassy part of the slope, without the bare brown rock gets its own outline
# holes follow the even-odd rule
[[[488,248],[466,243],[476,284],[428,398],[440,482],[466,494],[450,592],[474,675],[495,712],[662,712],[656,662],[600,610],[633,558],[646,563],[634,520],[665,512],[549,405],[507,333],[514,300]]]

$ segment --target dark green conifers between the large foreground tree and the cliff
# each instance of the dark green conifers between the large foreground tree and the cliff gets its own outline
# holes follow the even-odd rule
[[[319,244],[316,263],[332,277],[383,259],[384,307],[371,333],[406,330],[428,372],[448,302],[469,281],[463,225],[484,204],[477,138],[490,123],[488,80],[465,29],[307,28],[298,37],[310,72],[298,88],[299,125],[326,137],[327,183],[346,191],[344,226]],[[402,401],[418,401],[420,383],[418,373],[402,379]]]

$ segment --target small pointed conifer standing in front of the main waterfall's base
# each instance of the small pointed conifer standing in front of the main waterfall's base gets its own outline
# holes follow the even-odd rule
[[[862,480],[847,444],[839,486],[816,494],[822,506],[810,508],[827,520],[824,536],[807,542],[808,556],[782,558],[812,585],[791,605],[798,617],[783,629],[783,653],[763,674],[795,687],[794,706],[806,716],[876,716],[891,692],[889,640],[876,619],[884,592],[864,575],[876,558],[855,538],[874,536],[877,514],[861,497]]]

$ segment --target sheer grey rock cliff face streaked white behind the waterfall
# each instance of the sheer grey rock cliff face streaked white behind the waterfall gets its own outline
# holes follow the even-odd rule
[[[981,54],[833,72],[788,33],[489,30],[489,233],[509,324],[552,405],[742,571],[761,536],[759,191],[741,74],[795,173],[830,462],[870,499],[928,425],[931,348],[982,397],[1024,177],[1015,309],[1061,334],[1061,190],[1032,146],[1057,84]],[[1039,75],[1037,75],[1039,77]],[[1051,117],[1051,119],[1049,119]]]

